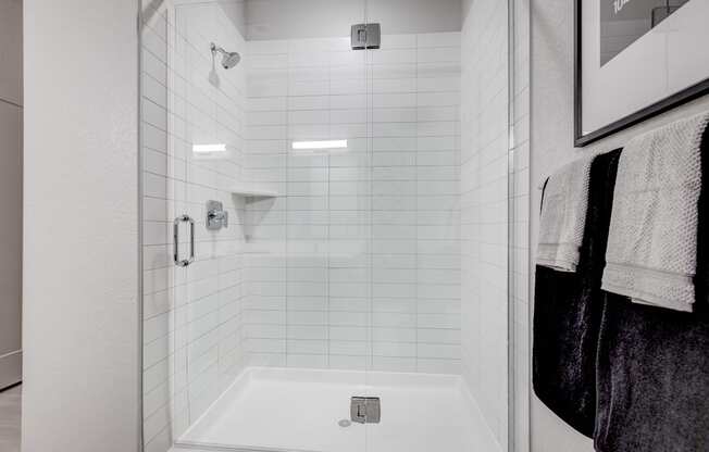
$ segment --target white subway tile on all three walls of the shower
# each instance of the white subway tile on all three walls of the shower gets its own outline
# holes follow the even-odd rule
[[[349,38],[246,42],[216,3],[145,17],[146,450],[166,451],[245,365],[462,373],[506,444],[506,7],[476,1],[462,35],[385,35],[373,51]],[[213,64],[211,41],[241,63]],[[523,307],[528,95],[515,87]],[[347,148],[293,149],[315,140]],[[207,231],[208,199],[224,202],[227,229]],[[197,261],[181,269],[183,213],[197,221]],[[515,327],[526,335],[526,318]]]

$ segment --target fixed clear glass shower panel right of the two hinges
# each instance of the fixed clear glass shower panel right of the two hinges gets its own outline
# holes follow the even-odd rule
[[[369,451],[507,450],[508,10],[471,8],[366,4]]]

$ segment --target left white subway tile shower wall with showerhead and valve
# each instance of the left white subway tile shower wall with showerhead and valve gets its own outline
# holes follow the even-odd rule
[[[141,39],[144,441],[165,452],[244,363],[245,205],[229,187],[244,180],[246,71],[214,64],[210,42],[246,42],[217,3],[171,1],[144,11]],[[225,150],[194,152],[204,145]],[[228,228],[207,230],[208,200],[224,203]],[[196,222],[186,268],[172,262],[182,214]]]

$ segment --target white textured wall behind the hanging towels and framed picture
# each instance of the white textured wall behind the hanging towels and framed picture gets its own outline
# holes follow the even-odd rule
[[[539,181],[573,159],[622,147],[631,137],[670,121],[709,109],[709,99],[656,117],[584,149],[573,148],[573,3],[532,0],[531,60],[531,170],[530,226],[531,279],[534,262],[540,190]],[[613,99],[622,102],[623,99]],[[534,293],[532,280],[531,293]],[[589,439],[553,415],[534,395],[531,406],[534,452],[592,452]]]

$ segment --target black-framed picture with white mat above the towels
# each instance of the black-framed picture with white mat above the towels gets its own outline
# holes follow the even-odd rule
[[[709,93],[709,0],[575,0],[575,145]]]

